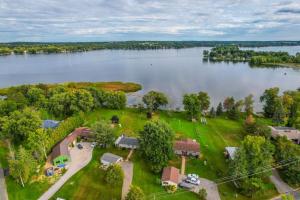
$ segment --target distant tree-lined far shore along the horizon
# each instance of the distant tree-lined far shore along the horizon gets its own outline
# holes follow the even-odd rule
[[[300,41],[124,41],[76,43],[0,43],[0,55],[69,53],[102,49],[180,49],[237,45],[240,47],[299,46]]]

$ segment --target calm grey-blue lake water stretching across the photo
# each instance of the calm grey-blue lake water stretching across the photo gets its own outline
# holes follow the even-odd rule
[[[128,81],[143,85],[130,95],[129,103],[141,101],[149,90],[170,98],[170,107],[181,106],[182,95],[207,91],[213,105],[226,96],[236,99],[253,94],[256,110],[266,88],[281,91],[300,87],[300,70],[250,68],[247,63],[209,63],[202,52],[209,48],[168,50],[102,50],[74,54],[18,55],[0,57],[0,87],[65,81]],[[265,47],[255,50],[300,52],[300,47]]]

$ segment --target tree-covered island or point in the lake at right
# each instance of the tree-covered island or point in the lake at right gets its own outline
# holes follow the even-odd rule
[[[221,45],[210,51],[203,51],[203,59],[213,62],[249,62],[253,66],[300,66],[300,53],[295,56],[288,52],[241,50],[236,45]]]

